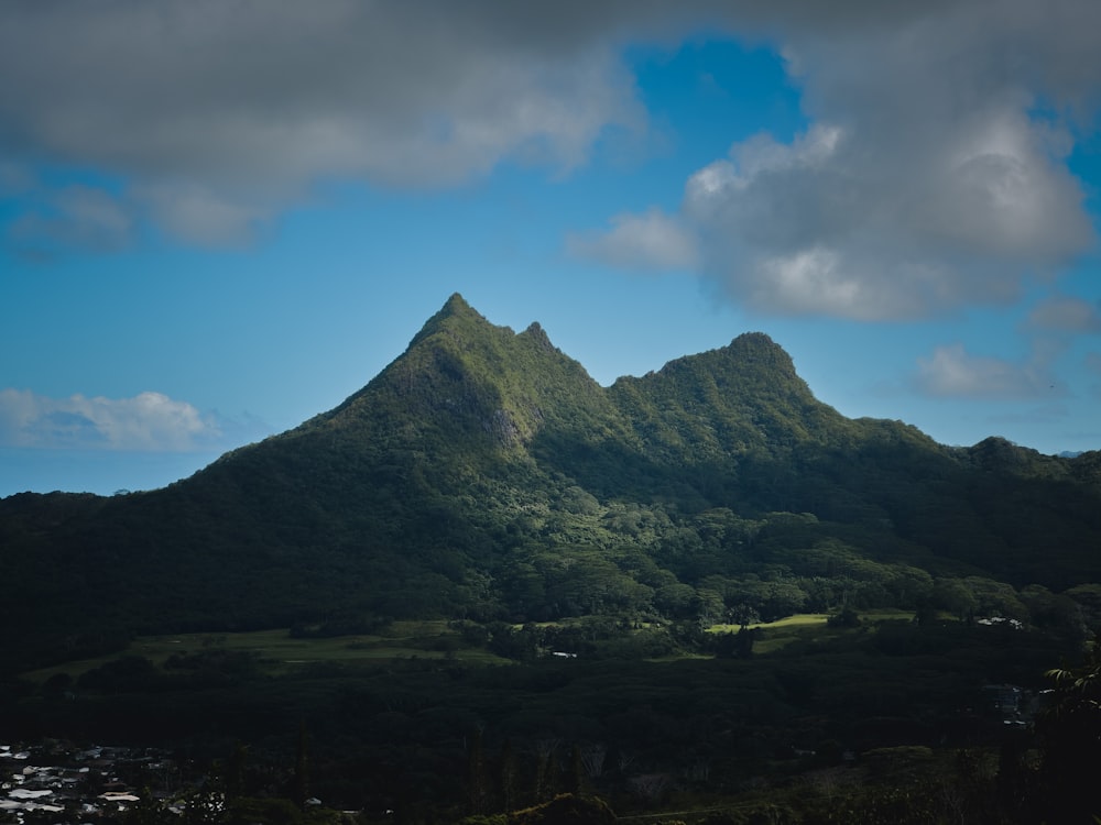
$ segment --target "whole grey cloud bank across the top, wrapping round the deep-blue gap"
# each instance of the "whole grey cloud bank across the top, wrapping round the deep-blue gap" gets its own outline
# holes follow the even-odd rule
[[[137,219],[232,244],[329,180],[451,186],[557,172],[645,131],[624,46],[701,31],[782,51],[808,119],[619,215],[575,254],[695,266],[776,314],[918,318],[1012,300],[1094,243],[1067,158],[1094,129],[1092,0],[11,0],[0,169],[97,169],[45,193],[29,245],[112,249]]]

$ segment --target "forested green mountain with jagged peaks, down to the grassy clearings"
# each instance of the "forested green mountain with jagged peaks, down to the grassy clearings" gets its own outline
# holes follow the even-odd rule
[[[9,667],[404,616],[1070,622],[1101,601],[1099,548],[1099,452],[844,418],[760,333],[604,388],[458,295],[339,407],[190,479],[0,501]]]

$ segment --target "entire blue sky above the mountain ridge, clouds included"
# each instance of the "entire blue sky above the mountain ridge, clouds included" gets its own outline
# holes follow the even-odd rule
[[[1088,0],[0,7],[0,496],[339,404],[454,293],[602,384],[1101,448]]]

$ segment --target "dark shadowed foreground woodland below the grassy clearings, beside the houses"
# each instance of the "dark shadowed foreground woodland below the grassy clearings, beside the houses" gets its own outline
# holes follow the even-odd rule
[[[1101,758],[1097,661],[1010,626],[864,623],[728,659],[269,666],[212,646],[9,682],[0,733],[168,746],[235,799],[408,823],[564,793],[715,825],[1089,822]],[[1005,684],[1012,708],[991,701]],[[246,809],[290,822],[293,805]]]

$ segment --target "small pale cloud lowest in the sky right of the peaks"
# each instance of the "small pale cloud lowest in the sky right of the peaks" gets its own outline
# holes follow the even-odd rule
[[[1058,396],[1064,388],[1040,359],[1014,363],[972,355],[962,344],[938,346],[928,359],[918,360],[916,386],[939,398],[1038,398]]]

